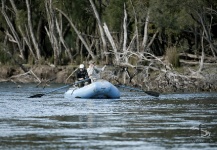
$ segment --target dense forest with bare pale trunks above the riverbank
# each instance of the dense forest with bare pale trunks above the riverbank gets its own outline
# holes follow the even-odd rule
[[[94,59],[124,67],[129,82],[139,75],[145,82],[155,70],[158,86],[173,77],[177,87],[181,79],[204,79],[204,65],[216,63],[213,0],[1,0],[0,22],[2,65]],[[196,68],[174,71],[183,64]]]

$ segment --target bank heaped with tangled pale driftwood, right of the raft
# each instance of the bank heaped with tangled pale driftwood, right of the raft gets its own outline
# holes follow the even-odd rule
[[[147,65],[122,63],[117,67],[118,73],[113,72],[109,77],[118,84],[130,84],[145,88],[146,90],[160,90],[162,92],[183,92],[183,91],[209,91],[216,89],[213,84],[216,79],[208,81],[209,77],[202,72],[194,71],[190,68],[185,74],[180,74],[174,70],[171,64],[165,62],[163,57],[156,57],[151,53],[131,52],[128,54],[136,56],[139,61],[148,62]],[[196,62],[198,65],[199,62]],[[206,63],[204,63],[206,65]],[[128,68],[128,67],[129,68]]]

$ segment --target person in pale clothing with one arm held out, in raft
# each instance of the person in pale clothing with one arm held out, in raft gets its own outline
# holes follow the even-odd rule
[[[106,65],[102,67],[101,69],[97,68],[95,66],[95,61],[93,60],[89,61],[89,67],[87,68],[87,73],[88,73],[89,78],[91,79],[91,82],[94,82],[100,79],[100,72],[104,71],[105,67]]]

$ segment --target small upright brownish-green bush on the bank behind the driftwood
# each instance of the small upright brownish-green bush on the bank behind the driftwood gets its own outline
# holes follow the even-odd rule
[[[166,50],[166,59],[173,67],[180,67],[179,53],[176,47],[169,47]]]

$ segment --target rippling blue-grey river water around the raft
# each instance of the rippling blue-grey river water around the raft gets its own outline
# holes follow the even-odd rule
[[[28,98],[61,84],[20,86],[0,83],[0,149],[217,148],[217,93],[68,100],[64,90]]]

